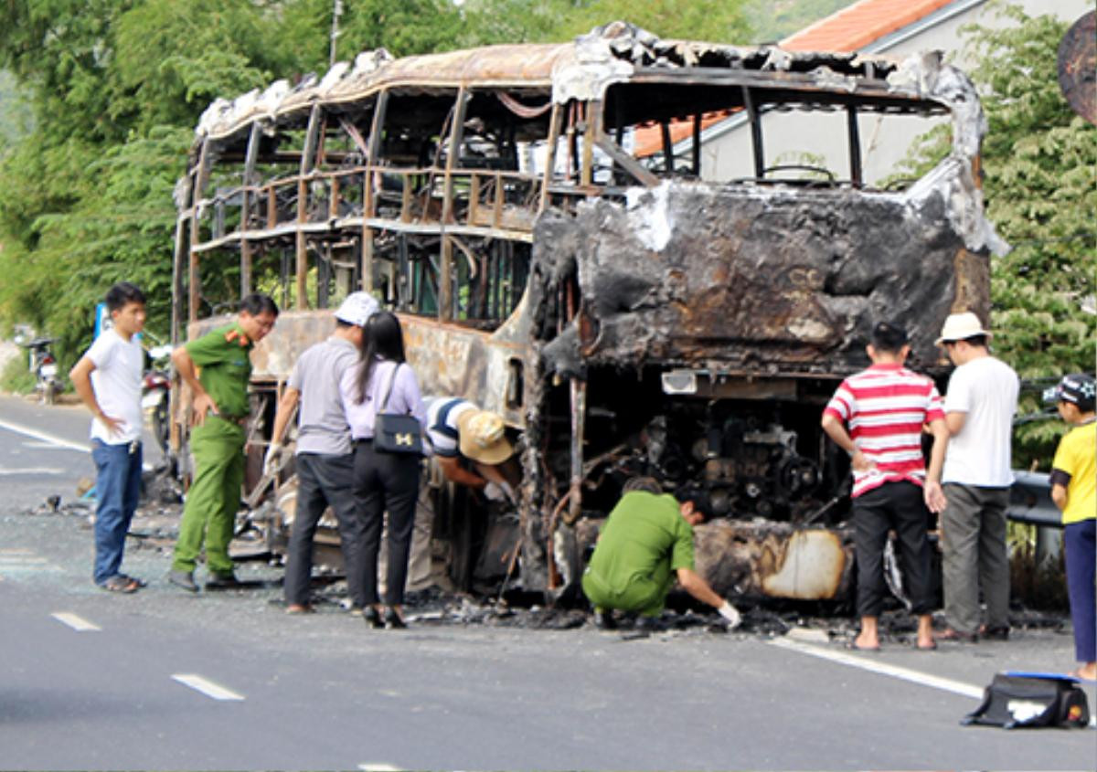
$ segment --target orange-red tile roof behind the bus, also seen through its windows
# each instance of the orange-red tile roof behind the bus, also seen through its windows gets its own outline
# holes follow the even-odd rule
[[[902,30],[953,0],[861,0],[821,19],[811,26],[780,42],[785,50],[800,52],[855,52]],[[737,111],[736,111],[737,112]],[[708,113],[701,118],[701,128],[720,123],[728,112]],[[670,140],[678,144],[690,136],[692,121],[670,124]],[[633,155],[646,158],[663,151],[663,135],[658,125],[636,129]]]

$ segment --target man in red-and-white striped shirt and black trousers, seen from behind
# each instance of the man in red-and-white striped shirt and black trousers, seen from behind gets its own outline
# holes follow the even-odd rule
[[[927,508],[940,512],[941,466],[949,430],[934,382],[906,370],[906,331],[880,322],[867,347],[872,366],[841,382],[823,411],[823,430],[850,455],[853,470],[853,544],[857,550],[857,611],[861,632],[852,648],[880,648],[883,553],[887,532],[898,535],[912,611],[918,616],[919,649],[934,649]],[[926,472],[923,428],[934,447]]]

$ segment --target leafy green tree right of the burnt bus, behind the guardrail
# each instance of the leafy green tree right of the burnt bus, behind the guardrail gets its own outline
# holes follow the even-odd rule
[[[1056,52],[1067,24],[1017,7],[1000,13],[1014,23],[964,30],[988,123],[987,217],[1011,246],[991,263],[991,323],[996,353],[1022,378],[1053,381],[1093,372],[1097,351],[1097,129],[1060,92]],[[924,137],[909,168],[936,162],[947,151],[946,135]],[[1038,402],[1029,391],[1021,412],[1036,412]],[[1018,465],[1048,462],[1061,432],[1058,422],[1022,424]]]

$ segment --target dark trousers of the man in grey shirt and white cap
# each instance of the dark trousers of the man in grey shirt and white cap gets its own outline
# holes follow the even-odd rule
[[[285,567],[285,602],[308,603],[308,582],[313,576],[313,538],[316,526],[329,506],[339,523],[339,543],[347,570],[351,602],[365,603],[365,519],[354,498],[354,456],[298,453],[297,515],[290,532],[290,555]]]

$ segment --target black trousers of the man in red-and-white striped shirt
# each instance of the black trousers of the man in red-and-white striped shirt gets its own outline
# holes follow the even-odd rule
[[[884,545],[887,532],[898,536],[900,565],[911,595],[912,611],[932,611],[929,577],[929,510],[921,487],[914,483],[884,483],[853,499],[853,546],[857,550],[857,611],[880,616],[887,584],[884,582]]]

